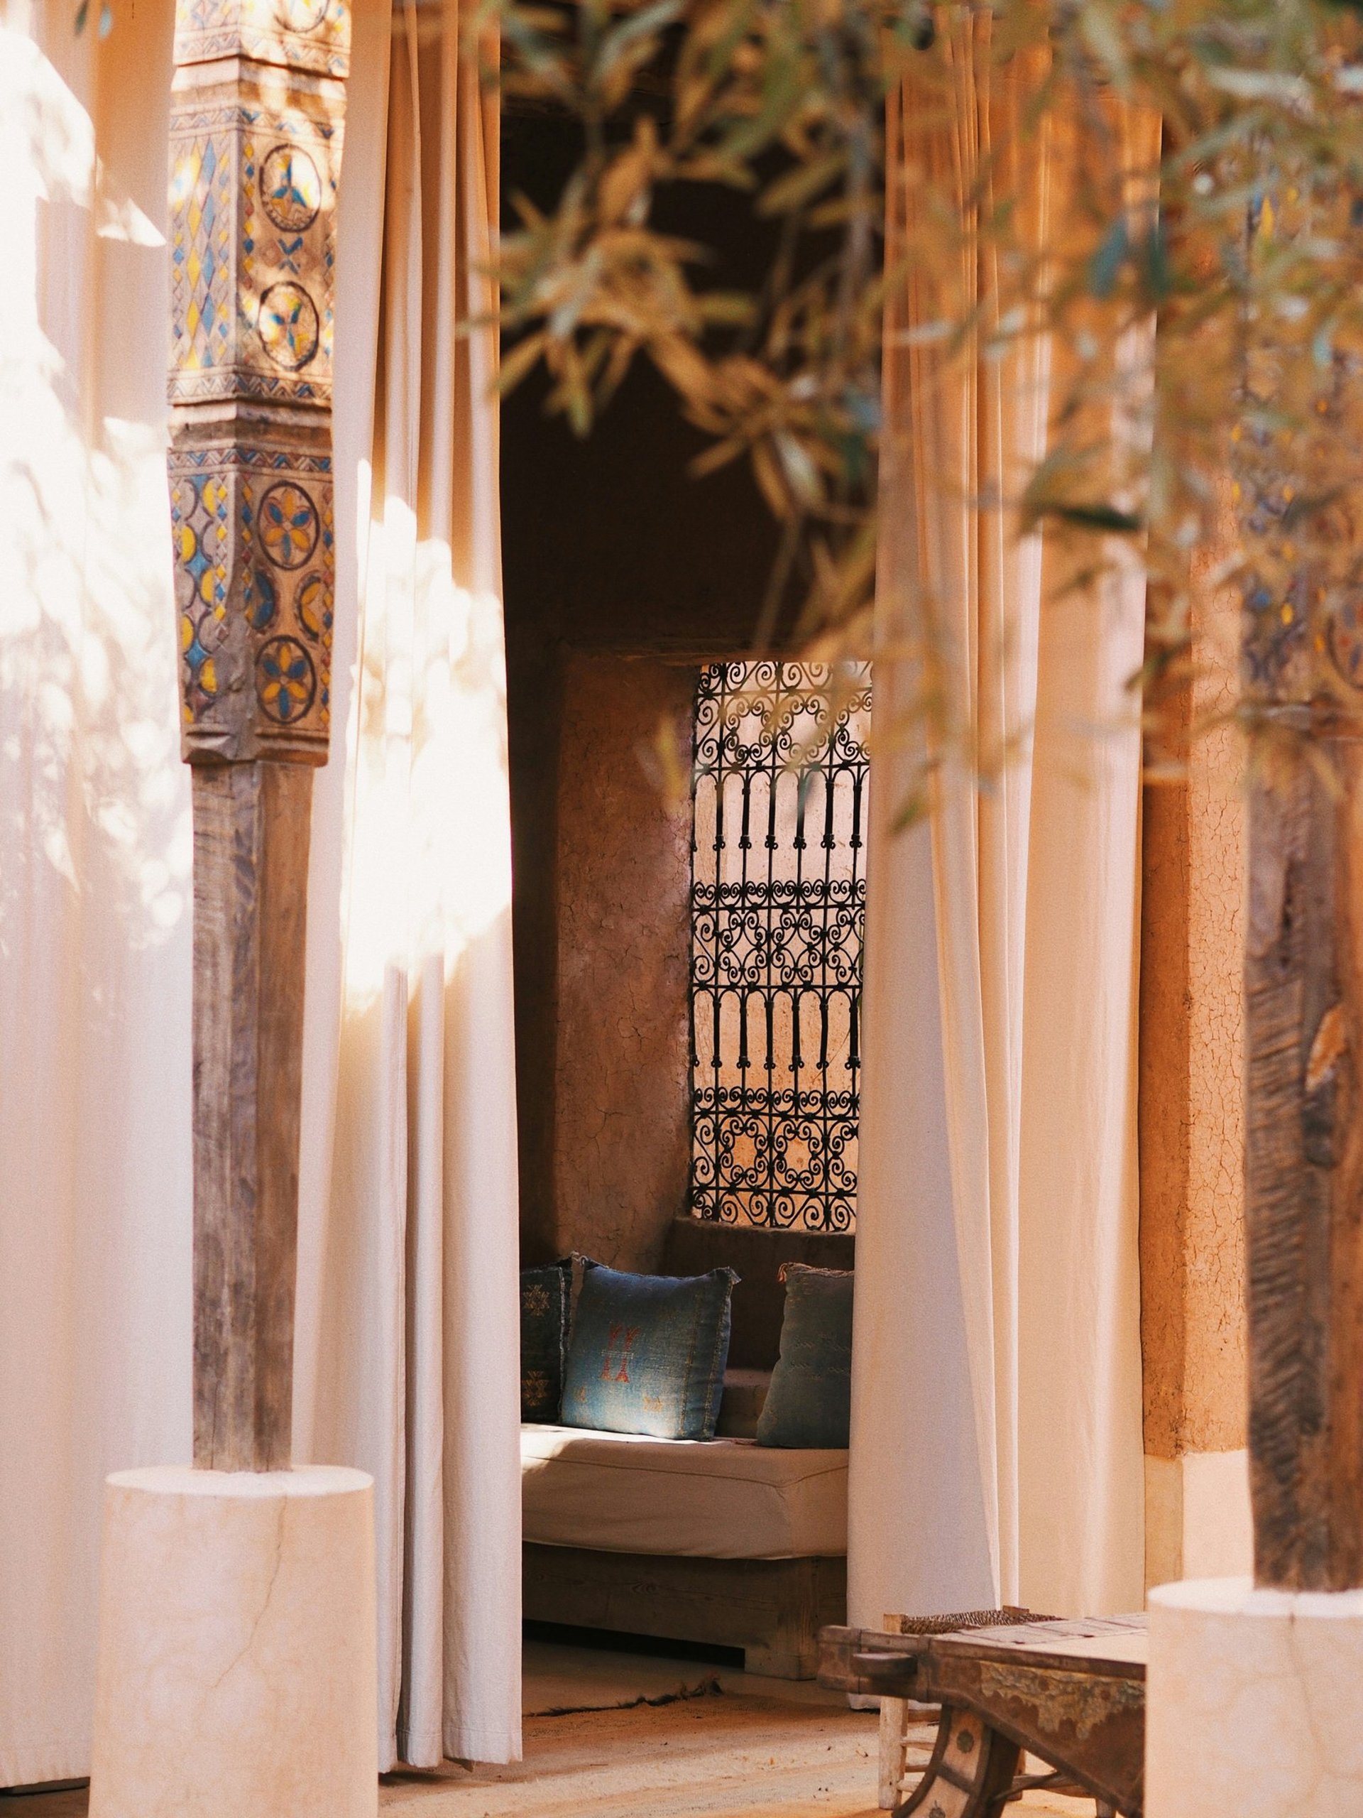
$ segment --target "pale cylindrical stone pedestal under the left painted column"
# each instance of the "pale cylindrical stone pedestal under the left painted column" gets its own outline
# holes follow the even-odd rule
[[[120,1471],[91,1818],[374,1818],[373,1480]]]

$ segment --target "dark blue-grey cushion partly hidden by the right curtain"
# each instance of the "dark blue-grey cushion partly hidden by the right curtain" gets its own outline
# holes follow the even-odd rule
[[[789,1262],[781,1354],[758,1420],[758,1445],[847,1445],[852,1413],[852,1271]]]

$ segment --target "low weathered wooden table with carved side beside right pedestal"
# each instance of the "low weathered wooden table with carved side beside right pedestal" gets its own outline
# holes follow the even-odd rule
[[[896,1818],[998,1818],[1032,1787],[1139,1818],[1145,1616],[945,1634],[823,1629],[820,1683],[941,1707],[932,1758]],[[1023,1753],[1047,1763],[1020,1773]]]

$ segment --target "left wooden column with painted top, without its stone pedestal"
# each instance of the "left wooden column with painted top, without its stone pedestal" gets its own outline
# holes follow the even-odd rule
[[[171,520],[194,800],[194,1463],[289,1465],[313,765],[327,762],[345,0],[180,0]]]

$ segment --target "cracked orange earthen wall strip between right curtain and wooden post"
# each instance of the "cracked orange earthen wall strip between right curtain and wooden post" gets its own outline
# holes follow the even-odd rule
[[[1145,1451],[1245,1443],[1243,742],[1205,729],[1234,689],[1234,602],[1203,602],[1187,782],[1145,791],[1141,1349]]]

